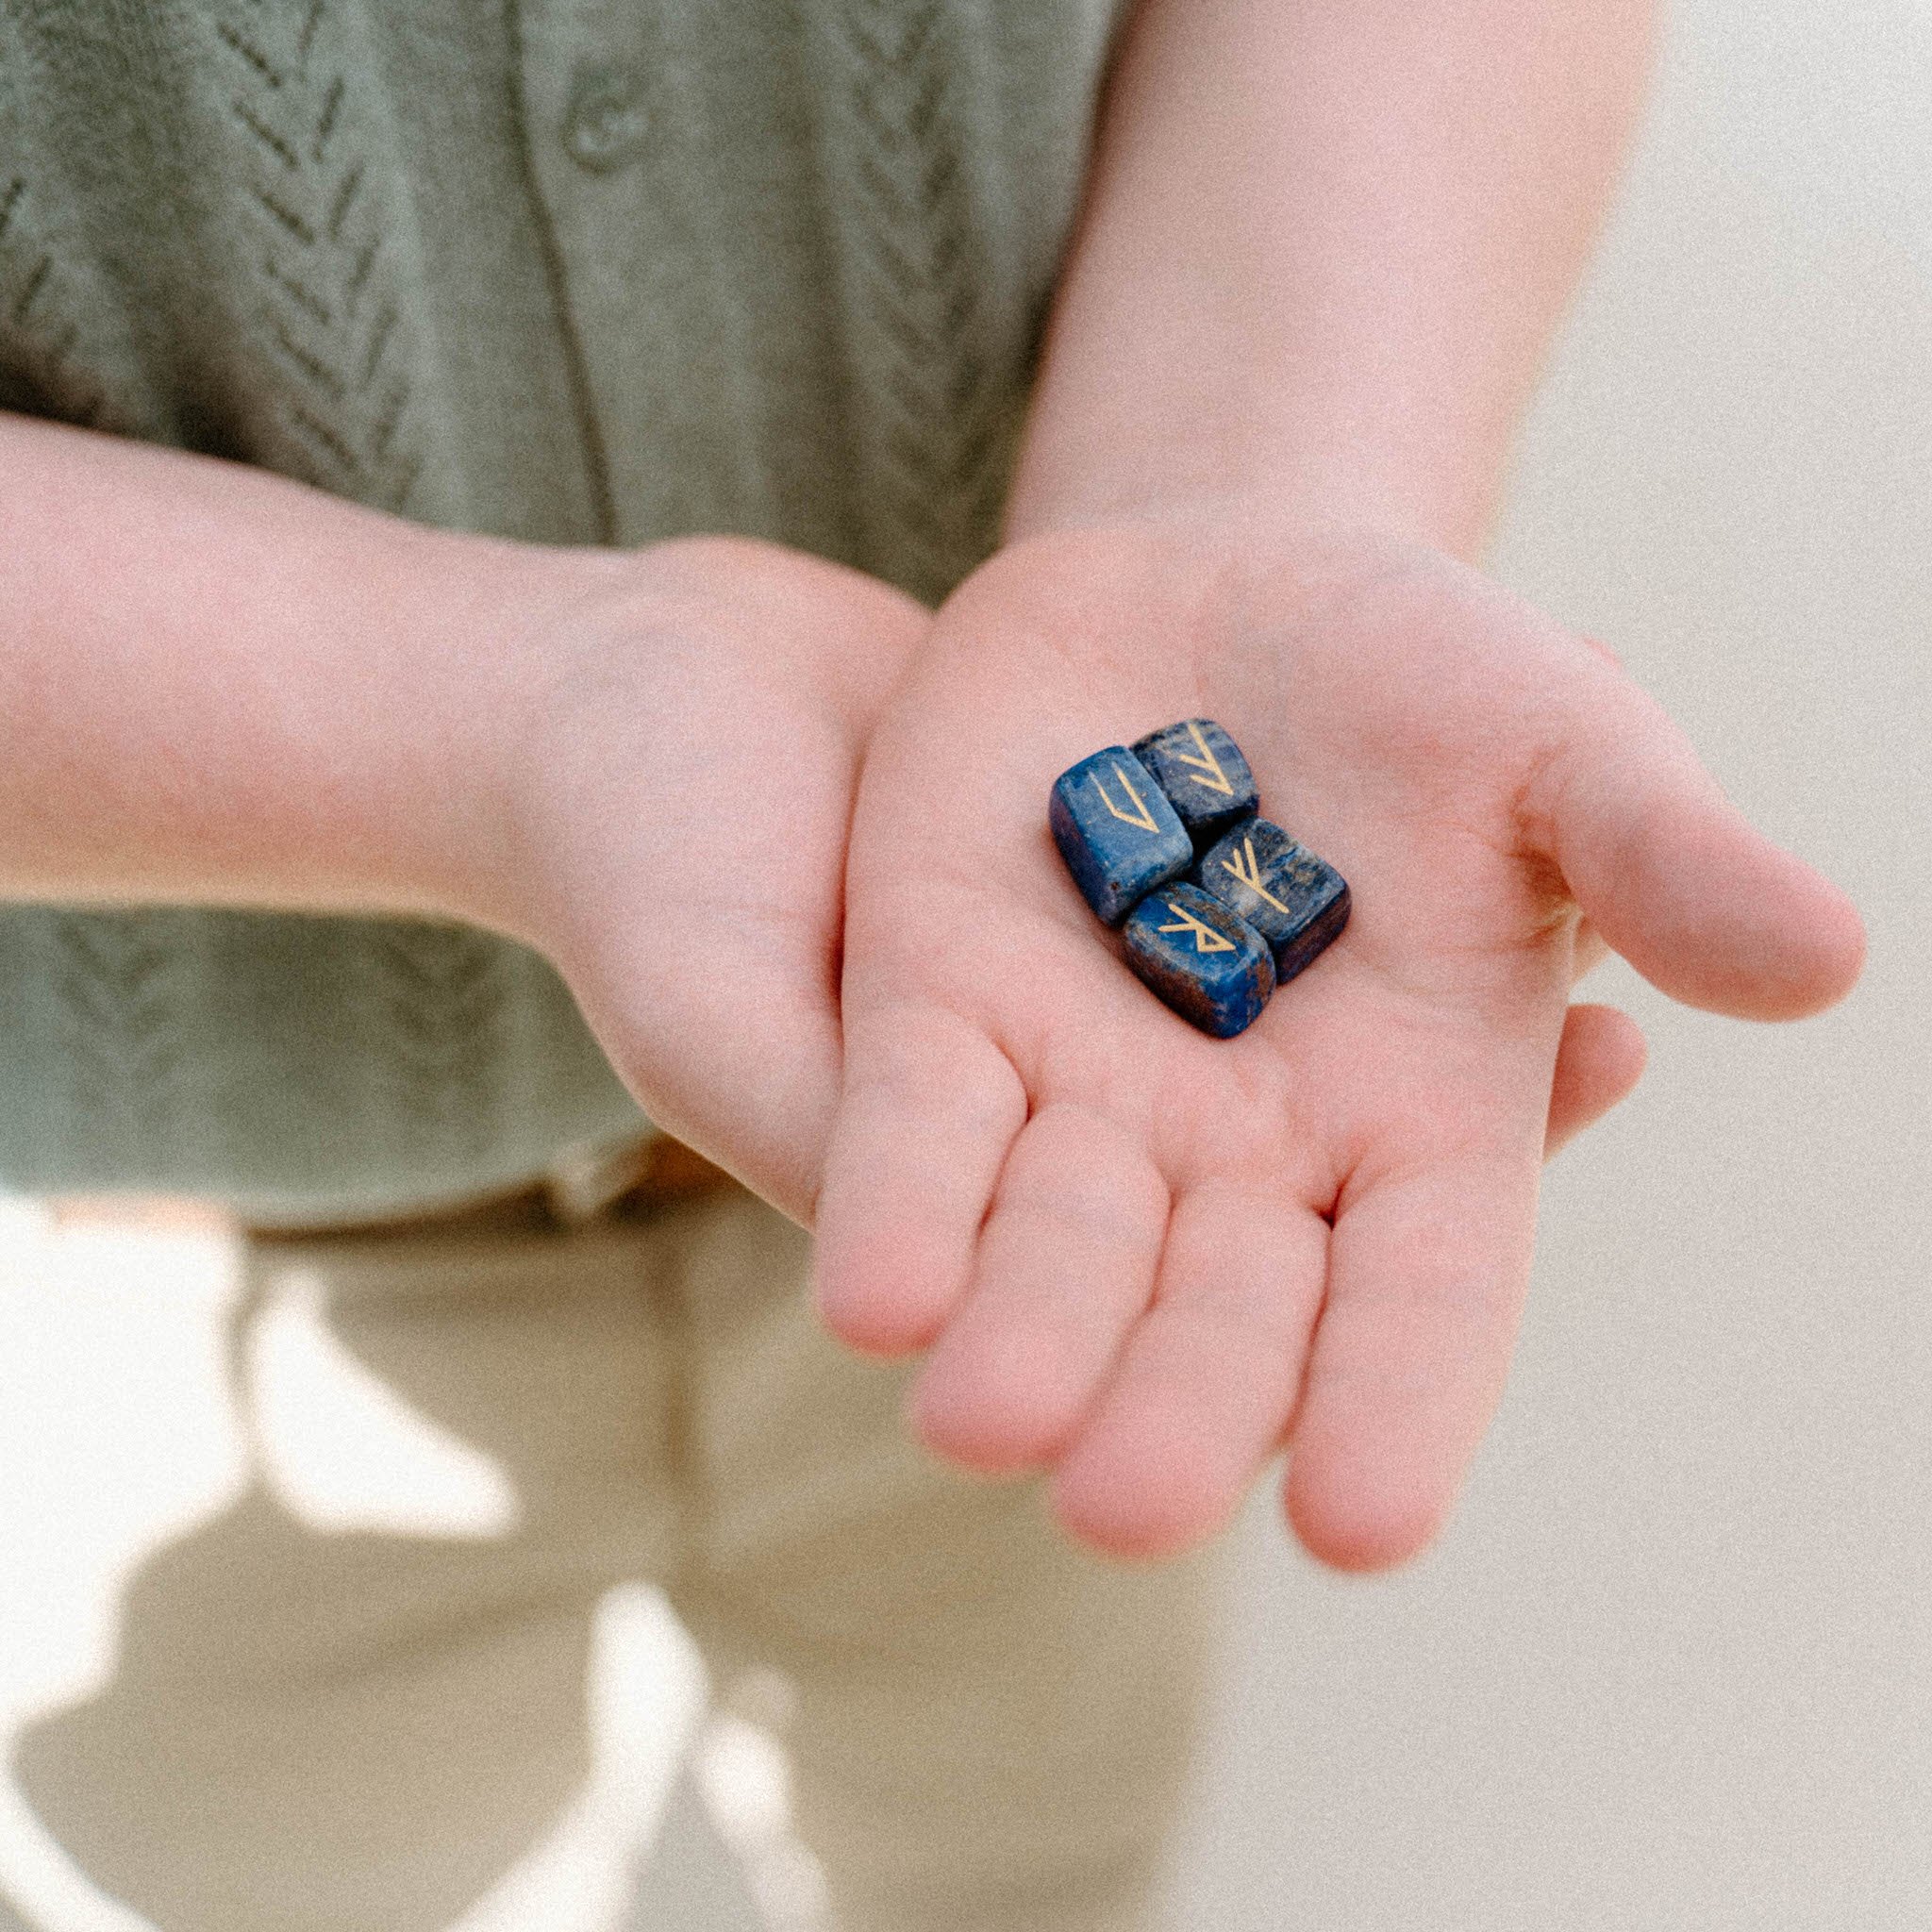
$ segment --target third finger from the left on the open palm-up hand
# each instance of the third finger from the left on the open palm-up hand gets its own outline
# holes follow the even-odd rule
[[[1321,1302],[1327,1225],[1248,1188],[1173,1213],[1153,1306],[1061,1463],[1061,1522],[1113,1555],[1173,1555],[1221,1528],[1279,1447]]]

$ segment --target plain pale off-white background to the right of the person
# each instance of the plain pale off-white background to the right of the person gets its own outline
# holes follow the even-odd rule
[[[1621,964],[1445,1542],[1250,1511],[1177,1932],[1932,1926],[1932,4],[1681,0],[1497,568],[1866,914],[1837,1012]]]

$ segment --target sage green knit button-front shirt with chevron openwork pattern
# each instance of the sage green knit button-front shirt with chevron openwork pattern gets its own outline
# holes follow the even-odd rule
[[[0,0],[0,408],[937,601],[995,541],[1124,14]],[[0,1188],[379,1213],[643,1124],[495,935],[0,906]]]

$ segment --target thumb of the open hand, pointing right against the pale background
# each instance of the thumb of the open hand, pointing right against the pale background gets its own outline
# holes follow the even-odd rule
[[[1584,916],[1671,999],[1797,1020],[1859,978],[1851,900],[1758,833],[1621,672],[1590,676],[1569,707],[1530,815]]]

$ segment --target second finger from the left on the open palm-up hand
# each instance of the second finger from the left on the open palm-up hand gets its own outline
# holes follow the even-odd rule
[[[927,1447],[989,1474],[1065,1449],[1153,1294],[1167,1206],[1146,1148],[1105,1115],[1061,1105],[1028,1122],[914,1391]]]

